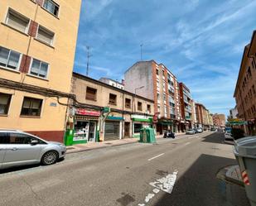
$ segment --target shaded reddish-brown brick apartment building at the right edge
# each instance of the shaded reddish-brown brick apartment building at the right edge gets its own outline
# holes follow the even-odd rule
[[[239,119],[243,120],[245,133],[256,133],[256,31],[249,45],[244,47],[234,98]]]

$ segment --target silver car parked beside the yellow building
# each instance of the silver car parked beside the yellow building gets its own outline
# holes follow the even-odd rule
[[[0,169],[41,163],[51,165],[65,157],[60,142],[45,141],[27,132],[0,130]]]

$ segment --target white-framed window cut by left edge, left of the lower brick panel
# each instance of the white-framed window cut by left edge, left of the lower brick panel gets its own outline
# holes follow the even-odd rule
[[[20,64],[21,54],[0,46],[0,66],[17,69]]]

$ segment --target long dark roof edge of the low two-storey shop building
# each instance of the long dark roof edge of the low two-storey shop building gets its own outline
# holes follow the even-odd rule
[[[152,99],[144,98],[144,97],[142,97],[142,96],[140,96],[138,94],[135,95],[135,93],[130,93],[130,92],[124,90],[124,89],[118,89],[117,87],[114,87],[112,85],[106,84],[104,82],[100,82],[99,80],[96,80],[96,79],[92,79],[92,78],[90,78],[88,76],[85,76],[83,74],[79,74],[79,73],[73,72],[73,77],[80,78],[80,79],[85,79],[85,80],[87,80],[89,82],[92,82],[94,84],[99,84],[99,85],[107,87],[109,89],[116,90],[116,91],[118,91],[120,93],[127,93],[129,95],[136,96],[136,98],[141,98],[141,99],[146,100],[148,102],[154,103],[154,100],[152,100]]]

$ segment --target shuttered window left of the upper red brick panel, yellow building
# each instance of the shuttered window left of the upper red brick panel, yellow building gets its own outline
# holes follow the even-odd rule
[[[14,12],[12,9],[9,9],[7,13],[6,24],[8,26],[12,26],[13,28],[17,29],[18,31],[22,31],[27,33],[29,19],[23,17],[21,14]]]

